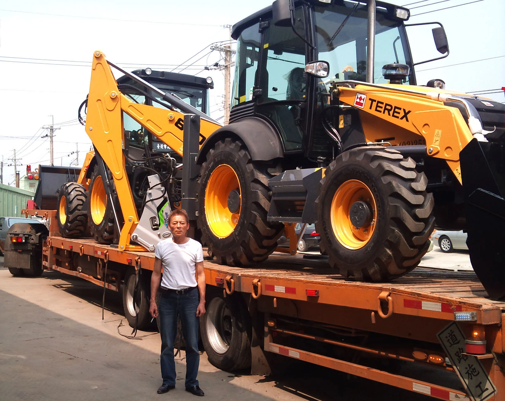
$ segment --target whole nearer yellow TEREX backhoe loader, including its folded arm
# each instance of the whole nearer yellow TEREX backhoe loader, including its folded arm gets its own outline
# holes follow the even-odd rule
[[[505,106],[446,91],[439,79],[417,85],[409,16],[374,0],[277,0],[243,19],[232,28],[234,101],[222,127],[153,87],[187,115],[132,102],[96,52],[86,132],[98,170],[90,175],[87,210],[102,216],[98,200],[117,194],[109,222],[120,234],[116,246],[154,249],[156,238],[142,242],[137,235],[137,216],[146,213],[149,191],[165,181],[150,176],[141,207],[134,207],[121,110],[179,154],[177,121],[196,114],[200,170],[193,171],[193,153],[183,155],[183,171],[193,171],[187,204],[219,263],[263,261],[283,230],[295,246],[295,224],[315,223],[321,250],[341,275],[388,281],[419,264],[435,227],[464,229],[489,296],[505,296]],[[449,49],[443,27],[434,24],[438,59]],[[149,152],[142,157],[154,160]],[[103,185],[94,197],[96,182]],[[164,193],[170,191],[155,197]],[[146,231],[157,229],[155,214],[147,213]]]

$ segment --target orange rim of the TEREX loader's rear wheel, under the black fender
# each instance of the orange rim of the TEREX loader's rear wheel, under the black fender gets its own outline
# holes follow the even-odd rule
[[[231,191],[240,194],[240,205],[235,212],[228,208]],[[207,225],[218,238],[226,238],[237,226],[242,204],[242,192],[235,170],[228,164],[217,166],[209,177],[205,190],[205,214]]]

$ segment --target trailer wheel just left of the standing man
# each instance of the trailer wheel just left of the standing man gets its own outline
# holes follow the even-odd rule
[[[151,315],[149,313],[150,306],[150,283],[151,276],[146,271],[140,272],[137,293],[135,297],[136,305],[138,306],[138,330],[151,330],[156,328],[156,322],[151,323]],[[135,327],[136,313],[133,303],[133,290],[135,288],[135,270],[133,268],[126,272],[123,281],[123,309],[125,318],[130,327]]]

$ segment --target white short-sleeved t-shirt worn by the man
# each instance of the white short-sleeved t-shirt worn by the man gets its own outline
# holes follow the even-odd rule
[[[158,243],[155,256],[163,264],[163,288],[196,287],[195,263],[204,260],[204,251],[198,241],[188,238],[185,244],[176,244],[172,238],[167,238]]]

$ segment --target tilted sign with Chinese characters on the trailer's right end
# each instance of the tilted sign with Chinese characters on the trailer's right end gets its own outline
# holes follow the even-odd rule
[[[496,393],[479,359],[466,353],[465,335],[458,323],[448,324],[437,337],[472,401],[485,401]]]

